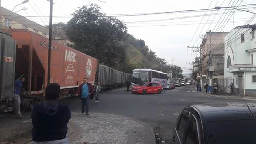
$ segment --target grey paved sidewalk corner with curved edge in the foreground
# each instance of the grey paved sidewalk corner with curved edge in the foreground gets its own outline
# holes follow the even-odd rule
[[[72,112],[67,136],[70,143],[146,143],[155,144],[155,135],[150,125],[130,117],[90,113],[80,115]]]

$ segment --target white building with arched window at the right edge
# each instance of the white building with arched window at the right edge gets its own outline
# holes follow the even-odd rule
[[[237,26],[225,37],[224,77],[228,93],[256,96],[255,30],[256,25]]]

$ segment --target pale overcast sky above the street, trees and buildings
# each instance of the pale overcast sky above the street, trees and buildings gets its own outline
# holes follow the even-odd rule
[[[11,3],[10,3],[11,2]],[[12,10],[22,0],[1,0],[1,6]],[[233,6],[243,10],[256,12],[255,0],[53,0],[53,23],[67,23],[71,14],[78,7],[96,3],[101,6],[101,12],[109,16],[118,16],[128,27],[128,33],[137,39],[145,41],[157,57],[165,59],[168,64],[178,65],[183,73],[190,73],[192,62],[198,52],[192,52],[200,46],[203,35],[212,32],[229,32],[235,26],[245,24],[256,24],[252,19],[252,13],[239,10],[221,8],[212,10],[215,6]],[[246,6],[244,6],[246,5]],[[13,11],[16,12],[23,7],[25,11],[18,14],[27,16],[28,19],[41,25],[49,25],[50,2],[47,0],[29,0],[28,3],[19,5]],[[176,12],[183,10],[198,10],[190,12]],[[125,14],[144,14],[170,12],[164,14],[150,14],[140,16],[123,16]],[[248,22],[249,21],[249,22]]]

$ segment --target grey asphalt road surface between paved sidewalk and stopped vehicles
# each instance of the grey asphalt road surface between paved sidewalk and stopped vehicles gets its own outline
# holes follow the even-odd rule
[[[79,99],[65,99],[63,102],[72,111],[81,110]],[[240,98],[215,97],[195,92],[192,86],[164,90],[161,94],[132,94],[125,88],[100,93],[99,103],[90,101],[89,112],[105,112],[126,115],[147,124],[164,134],[166,143],[172,138],[173,125],[179,113],[187,105],[211,102],[243,102]]]

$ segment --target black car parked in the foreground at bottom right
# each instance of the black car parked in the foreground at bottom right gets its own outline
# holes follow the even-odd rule
[[[176,120],[172,143],[256,143],[256,104],[187,106]]]

